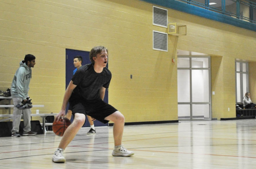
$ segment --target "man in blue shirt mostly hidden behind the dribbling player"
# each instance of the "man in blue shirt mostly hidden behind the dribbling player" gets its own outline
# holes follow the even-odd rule
[[[77,72],[77,70],[82,66],[82,56],[75,56],[74,57],[74,67],[75,70],[73,71],[73,75],[75,74],[75,72]],[[72,111],[71,111],[71,107],[68,107],[68,111],[66,114],[67,119],[71,119],[71,115],[72,115]],[[87,132],[87,134],[96,134],[96,130],[94,128],[94,123],[93,123],[93,119],[91,116],[88,116],[88,121],[90,123],[91,129]]]

